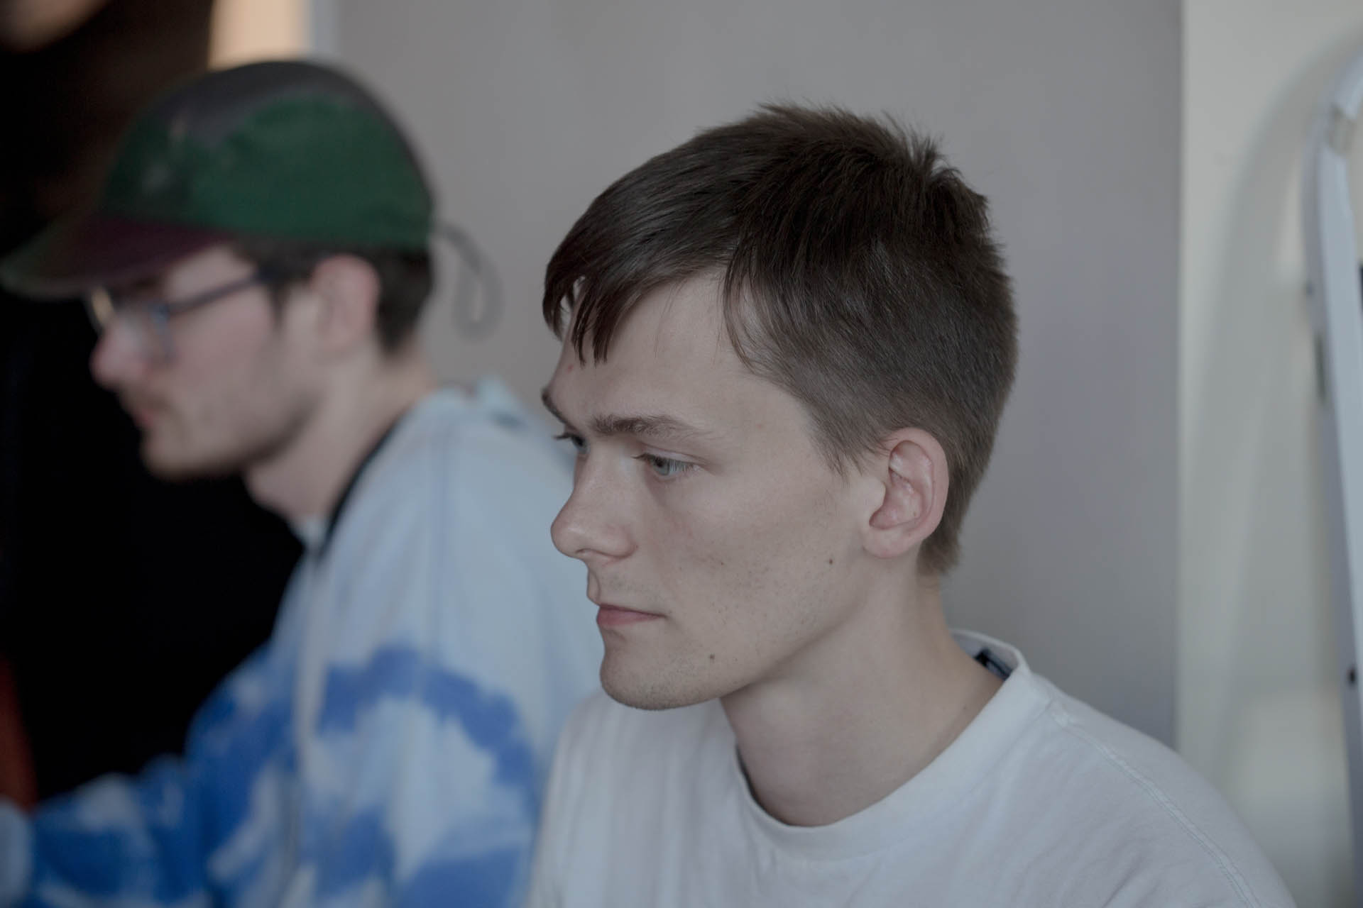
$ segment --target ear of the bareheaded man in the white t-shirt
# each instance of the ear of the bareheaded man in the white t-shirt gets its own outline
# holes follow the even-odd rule
[[[867,468],[879,501],[861,527],[863,547],[897,558],[923,543],[942,521],[949,485],[946,452],[923,429],[893,433]]]

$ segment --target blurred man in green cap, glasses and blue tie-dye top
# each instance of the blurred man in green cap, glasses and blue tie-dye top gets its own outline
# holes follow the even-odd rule
[[[567,464],[503,387],[439,389],[420,353],[431,230],[383,109],[333,69],[270,63],[153,103],[98,210],[0,267],[30,294],[90,294],[91,368],[154,472],[240,471],[307,543],[184,760],[31,817],[0,805],[0,904],[523,898],[600,644],[544,531]]]

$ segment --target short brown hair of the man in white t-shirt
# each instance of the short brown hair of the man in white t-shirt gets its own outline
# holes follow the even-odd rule
[[[707,272],[735,351],[801,402],[834,468],[905,426],[942,444],[920,565],[949,570],[1017,363],[985,199],[893,120],[765,106],[597,196],[549,260],[544,317],[601,362],[641,298]]]

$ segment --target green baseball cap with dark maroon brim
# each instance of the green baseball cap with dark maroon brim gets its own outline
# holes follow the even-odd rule
[[[147,106],[93,208],[0,260],[0,283],[64,298],[239,237],[424,250],[432,216],[416,154],[368,91],[331,67],[254,63]]]

